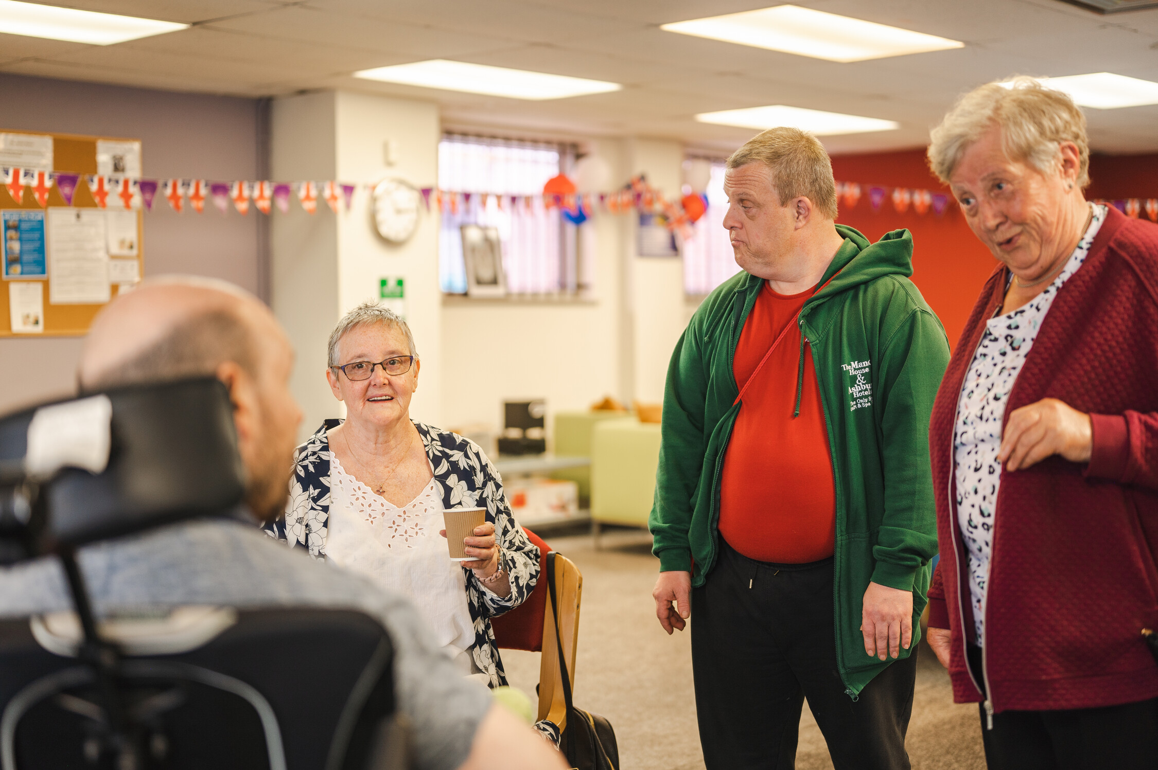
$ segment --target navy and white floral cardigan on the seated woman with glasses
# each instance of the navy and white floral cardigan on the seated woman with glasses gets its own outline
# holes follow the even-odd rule
[[[325,558],[327,521],[330,516],[330,442],[327,431],[342,420],[325,420],[306,443],[294,450],[294,472],[290,479],[290,503],[284,516],[263,527],[266,534],[305,547],[317,559]],[[434,481],[442,492],[444,507],[486,507],[486,520],[494,522],[496,542],[503,570],[511,577],[511,595],[500,597],[486,591],[467,573],[467,604],[475,624],[470,652],[478,670],[490,685],[507,683],[490,618],[514,609],[530,595],[538,579],[538,547],[532,543],[511,515],[499,472],[482,448],[457,433],[415,423],[426,456],[434,468]]]

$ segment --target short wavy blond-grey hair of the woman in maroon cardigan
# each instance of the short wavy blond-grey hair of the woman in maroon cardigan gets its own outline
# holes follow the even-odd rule
[[[1061,142],[1078,146],[1078,186],[1090,184],[1090,142],[1085,115],[1068,95],[1033,78],[994,81],[961,95],[930,132],[929,167],[945,183],[969,145],[992,126],[1011,160],[1026,161],[1045,175],[1057,170]]]

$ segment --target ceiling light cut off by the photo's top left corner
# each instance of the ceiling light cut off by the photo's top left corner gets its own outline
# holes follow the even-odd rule
[[[111,45],[139,37],[186,29],[189,24],[93,10],[42,6],[36,2],[0,0],[0,32],[46,37],[52,41]]]

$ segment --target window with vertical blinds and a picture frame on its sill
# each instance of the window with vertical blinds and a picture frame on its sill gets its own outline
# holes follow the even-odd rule
[[[582,288],[576,226],[543,206],[543,184],[570,167],[572,145],[446,134],[439,142],[439,283],[463,294],[463,225],[496,227],[511,294],[558,294]],[[449,195],[447,195],[449,193]]]

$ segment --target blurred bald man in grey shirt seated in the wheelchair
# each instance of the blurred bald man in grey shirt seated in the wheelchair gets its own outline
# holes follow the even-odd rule
[[[255,519],[285,508],[302,417],[290,393],[293,358],[269,308],[229,284],[145,281],[97,315],[81,355],[80,389],[217,376],[229,391],[248,479],[240,511],[82,549],[97,611],[178,604],[360,609],[378,617],[394,643],[395,688],[412,725],[416,768],[564,768],[558,751],[457,673],[408,600],[254,528]],[[54,559],[0,570],[0,616],[69,607]]]

